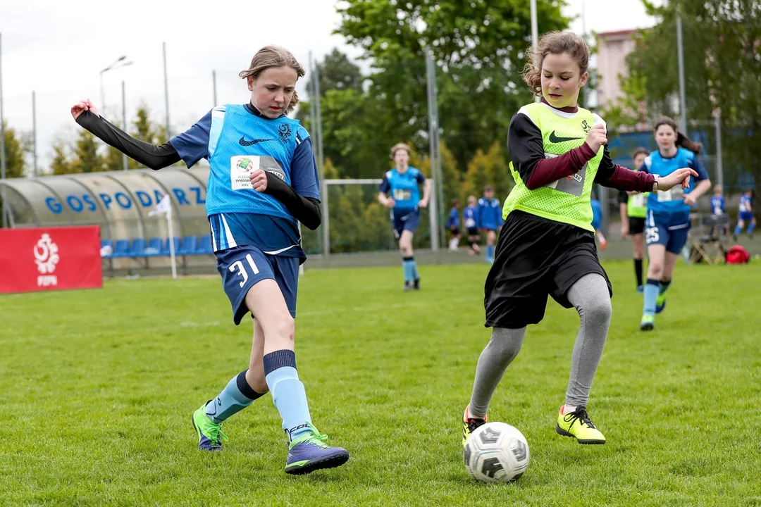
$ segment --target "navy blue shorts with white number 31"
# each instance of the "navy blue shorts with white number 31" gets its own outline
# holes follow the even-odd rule
[[[256,246],[244,245],[216,252],[217,271],[222,277],[224,293],[233,306],[233,322],[240,321],[249,312],[246,294],[262,280],[275,280],[288,305],[291,317],[296,317],[296,290],[298,288],[298,257],[268,255]]]

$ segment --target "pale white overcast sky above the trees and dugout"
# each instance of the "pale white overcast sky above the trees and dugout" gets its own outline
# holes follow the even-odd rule
[[[640,0],[568,0],[565,14],[578,16],[571,26],[578,33],[582,4],[588,31],[654,24]],[[125,81],[128,121],[140,101],[163,121],[165,42],[170,124],[181,132],[215,105],[212,71],[217,103],[247,101],[249,92],[237,72],[266,44],[288,47],[305,67],[310,51],[315,59],[333,47],[359,55],[331,34],[339,23],[335,5],[336,0],[0,0],[5,119],[13,128],[31,130],[35,90],[38,163],[46,168],[53,139],[74,135],[69,108],[86,97],[100,106],[100,71],[126,55],[132,65],[103,73],[107,118],[121,115]]]

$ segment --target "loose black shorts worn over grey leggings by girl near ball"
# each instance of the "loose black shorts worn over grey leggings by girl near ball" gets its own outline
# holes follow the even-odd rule
[[[571,308],[566,293],[585,274],[604,277],[591,231],[512,211],[497,241],[486,277],[486,327],[523,328],[544,318],[547,296]]]

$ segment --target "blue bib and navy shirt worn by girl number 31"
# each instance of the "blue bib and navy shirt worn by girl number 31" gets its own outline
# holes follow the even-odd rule
[[[263,169],[304,197],[320,199],[311,141],[298,120],[269,119],[250,105],[227,104],[170,139],[188,167],[209,160],[206,214],[215,252],[257,246],[272,255],[305,258],[298,223],[272,195],[253,190]]]

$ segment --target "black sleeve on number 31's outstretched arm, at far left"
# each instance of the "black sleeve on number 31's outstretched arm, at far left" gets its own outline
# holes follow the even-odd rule
[[[83,112],[76,121],[106,144],[152,170],[159,170],[180,161],[180,154],[171,144],[156,146],[135,139],[116,125],[111,125],[106,119],[95,116],[91,111]]]

